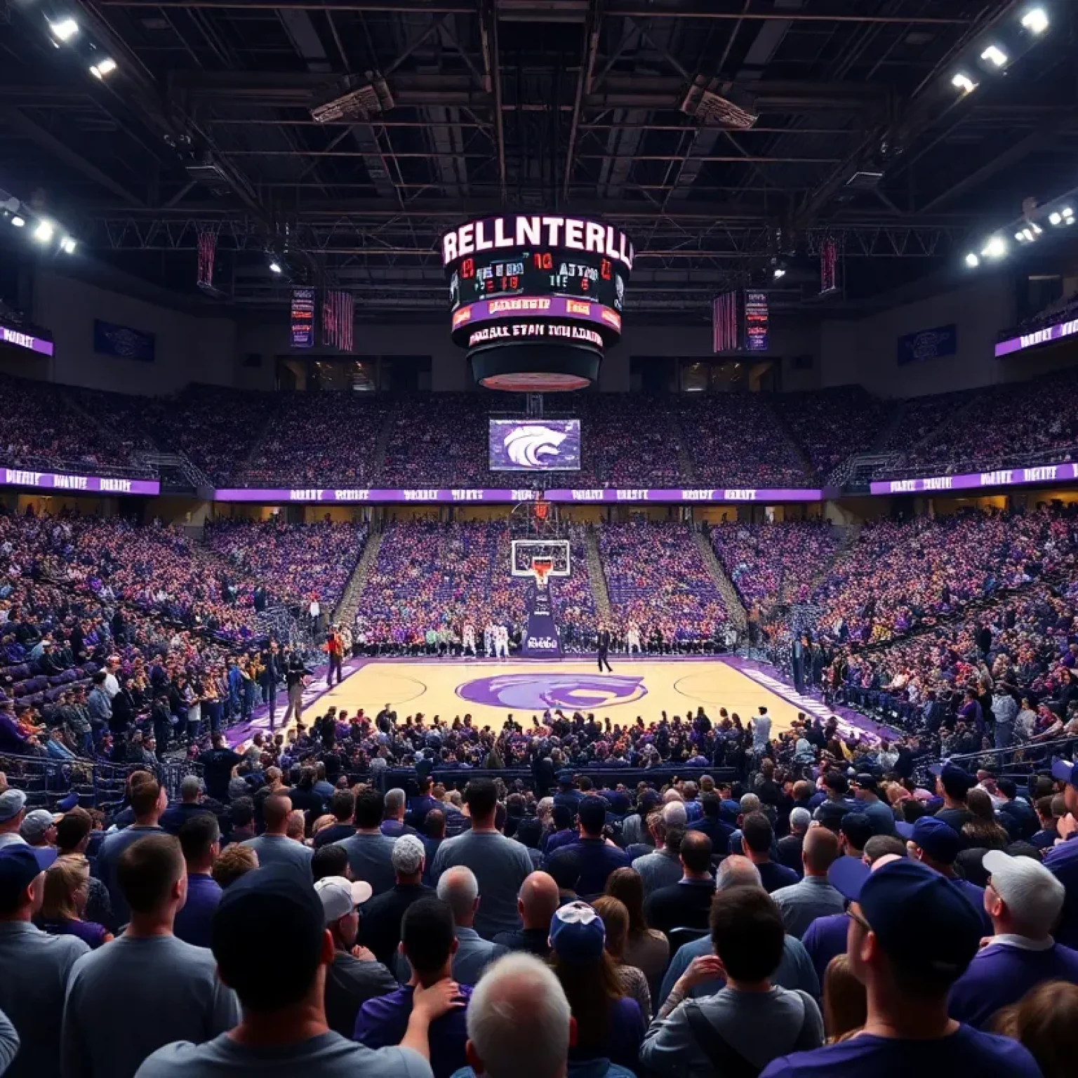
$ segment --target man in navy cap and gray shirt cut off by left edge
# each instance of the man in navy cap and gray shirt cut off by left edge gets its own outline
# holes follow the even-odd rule
[[[59,1078],[56,1036],[71,967],[89,948],[74,936],[46,936],[31,918],[45,876],[25,843],[0,851],[0,1010],[20,1047],[6,1078]],[[2,1069],[2,1067],[0,1067]]]

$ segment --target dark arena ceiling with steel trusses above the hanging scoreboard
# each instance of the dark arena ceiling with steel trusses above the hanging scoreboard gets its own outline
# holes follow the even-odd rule
[[[354,291],[362,317],[443,317],[438,237],[571,210],[638,249],[630,317],[706,318],[788,267],[774,307],[862,304],[950,268],[970,233],[1073,186],[1078,4],[975,93],[956,65],[1018,0],[0,0],[0,186],[84,257],[220,296]],[[74,17],[113,57],[57,47]],[[318,105],[358,92],[364,111]],[[731,101],[756,114],[719,122]],[[818,296],[826,238],[838,296]],[[270,270],[267,251],[285,260]]]

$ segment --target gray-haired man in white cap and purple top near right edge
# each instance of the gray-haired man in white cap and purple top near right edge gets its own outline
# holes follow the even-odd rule
[[[1033,857],[984,855],[984,909],[993,934],[951,990],[951,1017],[978,1028],[1045,981],[1078,984],[1078,951],[1052,939],[1064,888]]]

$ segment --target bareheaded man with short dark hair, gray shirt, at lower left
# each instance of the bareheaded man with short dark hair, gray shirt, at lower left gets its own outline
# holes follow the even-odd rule
[[[64,1005],[64,1078],[133,1078],[174,1040],[209,1040],[239,1021],[213,956],[172,935],[188,895],[178,840],[152,835],[120,858],[130,909],[122,936],[75,963]]]

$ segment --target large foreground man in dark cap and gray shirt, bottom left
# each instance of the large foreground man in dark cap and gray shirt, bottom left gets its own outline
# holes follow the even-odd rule
[[[287,948],[267,945],[284,939]],[[452,1006],[450,994],[418,990],[400,1047],[372,1052],[326,1021],[326,970],[334,955],[322,903],[294,868],[247,873],[225,889],[213,918],[213,958],[221,981],[239,998],[239,1024],[205,1044],[162,1048],[138,1078],[255,1078],[272,1069],[306,1069],[324,1078],[431,1078],[427,1029]]]

